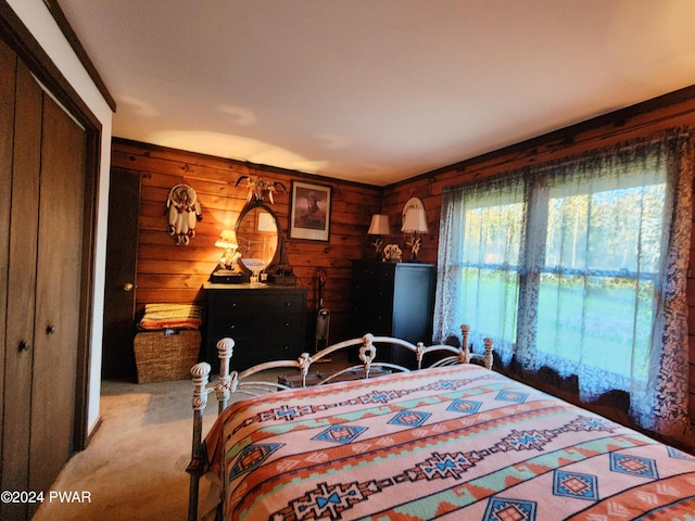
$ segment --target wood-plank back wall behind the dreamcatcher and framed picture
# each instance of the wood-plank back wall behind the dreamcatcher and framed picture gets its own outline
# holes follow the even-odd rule
[[[137,310],[144,304],[159,302],[204,304],[201,287],[222,255],[215,241],[223,229],[233,228],[245,204],[245,187],[235,187],[240,176],[280,181],[288,190],[292,180],[330,186],[329,241],[288,239],[286,245],[298,285],[308,289],[307,341],[314,338],[313,317],[318,305],[320,270],[328,277],[324,306],[331,312],[329,340],[345,338],[350,321],[351,259],[372,254],[367,229],[371,214],[380,212],[381,188],[119,139],[114,139],[111,161],[113,168],[137,171],[141,177]],[[176,245],[167,233],[166,200],[169,190],[179,183],[191,186],[202,206],[202,221],[197,224],[195,237],[188,245]],[[278,194],[275,203],[268,205],[278,215],[287,239],[290,194]]]

